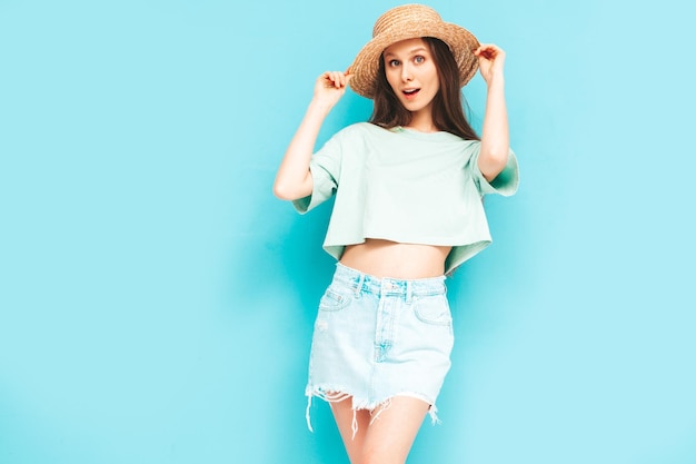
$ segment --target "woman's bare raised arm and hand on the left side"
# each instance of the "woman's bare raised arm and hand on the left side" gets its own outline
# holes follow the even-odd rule
[[[340,71],[327,71],[319,76],[307,112],[285,152],[274,195],[284,200],[296,200],[311,194],[312,179],[309,160],[315,149],[319,129],[331,108],[346,92],[349,77]]]

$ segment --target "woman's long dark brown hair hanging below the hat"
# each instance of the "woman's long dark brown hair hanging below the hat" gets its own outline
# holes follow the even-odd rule
[[[438,130],[451,132],[465,140],[479,140],[478,135],[471,128],[464,115],[464,96],[459,80],[459,68],[447,43],[432,37],[424,37],[440,80],[440,90],[432,99],[432,124]],[[387,81],[385,60],[379,60],[377,75],[377,89],[372,106],[372,116],[369,122],[392,128],[408,126],[411,121],[411,112],[404,108],[391,86]]]

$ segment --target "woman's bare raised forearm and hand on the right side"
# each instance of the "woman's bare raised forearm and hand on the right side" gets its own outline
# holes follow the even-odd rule
[[[478,168],[490,181],[505,168],[510,149],[503,76],[505,52],[497,46],[481,45],[474,55],[488,87]]]

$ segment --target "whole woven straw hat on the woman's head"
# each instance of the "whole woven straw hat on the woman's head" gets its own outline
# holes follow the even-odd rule
[[[474,55],[478,40],[468,30],[445,22],[430,7],[404,4],[392,8],[377,19],[372,40],[358,52],[348,68],[350,87],[362,97],[374,98],[382,51],[400,40],[435,37],[449,46],[459,67],[460,85],[464,87],[476,75],[478,59]]]

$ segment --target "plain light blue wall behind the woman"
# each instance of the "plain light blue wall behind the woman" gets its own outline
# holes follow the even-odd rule
[[[329,208],[271,182],[395,4],[0,0],[0,463],[346,462],[325,405],[305,426]],[[450,282],[409,462],[696,462],[686,2],[430,4],[507,50],[523,184]]]

